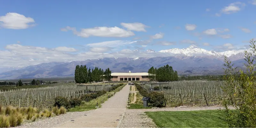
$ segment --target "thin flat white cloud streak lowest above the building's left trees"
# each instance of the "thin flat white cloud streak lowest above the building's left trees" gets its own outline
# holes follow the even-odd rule
[[[100,43],[87,44],[88,47],[119,47],[127,44],[137,43],[139,41],[128,41],[128,40],[115,40],[115,41],[105,41]]]

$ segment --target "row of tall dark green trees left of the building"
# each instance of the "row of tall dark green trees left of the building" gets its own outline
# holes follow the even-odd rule
[[[104,76],[103,76],[104,75]],[[105,81],[110,81],[111,79],[111,70],[107,68],[105,71],[101,68],[87,68],[86,65],[76,65],[75,69],[75,81],[76,83],[92,83],[92,82],[100,82],[103,79]]]

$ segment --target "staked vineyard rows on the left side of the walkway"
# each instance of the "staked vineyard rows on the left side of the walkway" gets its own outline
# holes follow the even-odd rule
[[[0,105],[14,107],[34,106],[37,108],[50,108],[57,96],[76,97],[94,91],[108,91],[111,86],[118,83],[106,83],[102,85],[76,85],[75,83],[55,83],[48,87],[17,89],[0,92]]]

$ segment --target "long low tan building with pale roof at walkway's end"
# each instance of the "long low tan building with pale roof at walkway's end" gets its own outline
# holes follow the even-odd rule
[[[149,81],[148,73],[111,73],[111,81]]]

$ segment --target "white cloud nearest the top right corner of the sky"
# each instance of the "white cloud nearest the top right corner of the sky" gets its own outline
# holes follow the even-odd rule
[[[220,10],[219,13],[216,13],[215,15],[216,16],[221,16],[221,13],[224,13],[224,14],[231,14],[231,13],[235,13],[235,12],[238,12],[238,11],[241,11],[241,9],[245,6],[244,3],[242,2],[235,2],[235,3],[231,3],[229,4],[228,6],[225,6],[224,8],[222,8]]]

